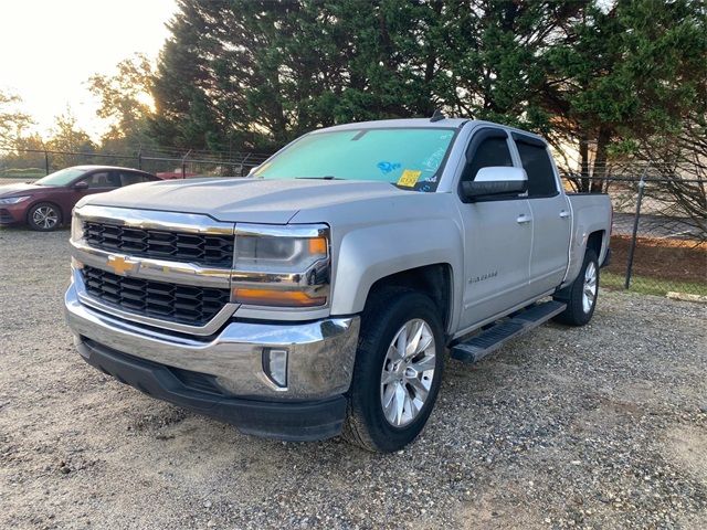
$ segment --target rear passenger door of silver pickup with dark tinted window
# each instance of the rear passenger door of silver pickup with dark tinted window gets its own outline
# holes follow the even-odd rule
[[[532,214],[530,294],[541,295],[562,283],[569,259],[571,209],[545,141],[513,132],[528,176],[528,203]]]

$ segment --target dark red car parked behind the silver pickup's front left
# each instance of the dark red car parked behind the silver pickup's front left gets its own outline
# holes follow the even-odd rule
[[[71,222],[71,211],[91,193],[160,180],[151,173],[110,166],[75,166],[24,184],[0,186],[0,226],[28,224],[49,232]]]

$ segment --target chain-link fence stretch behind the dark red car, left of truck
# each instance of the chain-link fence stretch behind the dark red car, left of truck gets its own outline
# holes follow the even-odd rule
[[[170,148],[136,149],[131,152],[13,149],[0,150],[0,178],[34,179],[59,169],[82,165],[141,169],[163,179],[244,177],[267,157],[266,153],[257,152],[212,152]]]

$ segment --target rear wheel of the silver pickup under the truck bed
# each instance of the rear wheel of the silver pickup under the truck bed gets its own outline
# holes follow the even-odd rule
[[[591,278],[593,277],[593,283]],[[585,289],[587,293],[585,293]],[[593,296],[590,296],[593,293]],[[592,248],[584,253],[584,262],[574,282],[564,287],[555,299],[567,304],[567,309],[555,320],[569,326],[584,326],[592,319],[599,297],[599,258]]]

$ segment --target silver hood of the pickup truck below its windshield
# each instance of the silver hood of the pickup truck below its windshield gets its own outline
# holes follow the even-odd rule
[[[236,223],[286,224],[303,210],[409,193],[414,192],[373,181],[190,179],[129,186],[87,197],[77,208],[96,204],[202,213]]]

